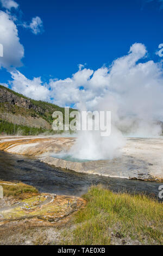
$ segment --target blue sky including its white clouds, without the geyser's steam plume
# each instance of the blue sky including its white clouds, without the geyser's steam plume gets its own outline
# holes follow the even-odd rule
[[[111,63],[128,58],[135,43],[140,45],[132,48],[130,57],[137,54],[137,63],[161,63],[155,53],[163,43],[162,0],[0,2],[0,44],[6,54],[0,57],[0,82],[24,95],[77,106],[87,92],[84,99],[91,107],[107,90]],[[15,56],[5,59],[9,53]]]

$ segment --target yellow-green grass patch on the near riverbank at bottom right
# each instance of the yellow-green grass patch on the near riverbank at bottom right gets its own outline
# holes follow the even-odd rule
[[[87,205],[74,217],[76,228],[66,232],[66,245],[110,245],[122,240],[163,244],[162,203],[143,195],[112,193],[101,186],[85,194]],[[66,237],[69,237],[68,239]]]

